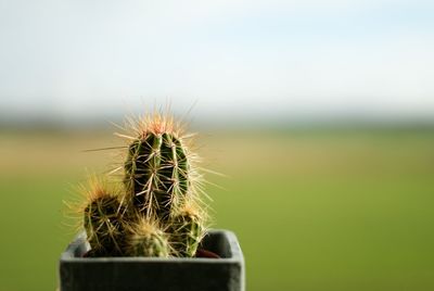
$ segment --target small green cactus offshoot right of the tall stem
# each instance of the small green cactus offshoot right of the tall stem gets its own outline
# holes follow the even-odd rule
[[[201,217],[186,212],[173,218],[170,228],[170,243],[174,248],[174,255],[193,257],[205,230]]]

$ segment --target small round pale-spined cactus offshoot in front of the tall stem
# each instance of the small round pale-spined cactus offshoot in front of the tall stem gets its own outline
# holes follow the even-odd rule
[[[146,220],[133,226],[126,245],[126,254],[129,256],[168,257],[170,253],[166,235]]]

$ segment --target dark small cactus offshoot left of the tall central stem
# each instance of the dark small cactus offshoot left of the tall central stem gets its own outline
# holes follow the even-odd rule
[[[122,210],[116,197],[101,195],[84,210],[84,226],[95,256],[122,255]]]

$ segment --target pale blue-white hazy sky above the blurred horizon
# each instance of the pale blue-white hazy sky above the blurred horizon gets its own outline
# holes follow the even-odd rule
[[[434,119],[434,2],[0,0],[0,115]]]

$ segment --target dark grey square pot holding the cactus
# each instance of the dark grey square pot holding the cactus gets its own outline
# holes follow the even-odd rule
[[[81,233],[60,260],[61,290],[244,291],[244,257],[235,235],[212,230],[202,246],[220,258],[81,257],[89,250]]]

